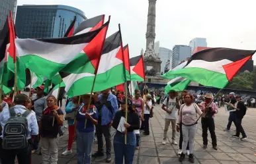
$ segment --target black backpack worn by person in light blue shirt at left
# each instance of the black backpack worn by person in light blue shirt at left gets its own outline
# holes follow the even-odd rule
[[[26,117],[31,111],[15,113],[14,107],[9,109],[10,118],[3,127],[3,149],[20,150],[28,146],[28,121]]]

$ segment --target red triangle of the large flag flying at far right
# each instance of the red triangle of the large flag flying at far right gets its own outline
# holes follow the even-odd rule
[[[238,70],[243,67],[243,65],[249,61],[249,59],[252,57],[245,57],[239,61],[235,61],[233,63],[230,63],[228,65],[223,65],[222,67],[224,68],[225,72],[226,72],[226,76],[228,78],[228,80],[232,80],[232,78],[235,76],[235,74],[238,72]]]

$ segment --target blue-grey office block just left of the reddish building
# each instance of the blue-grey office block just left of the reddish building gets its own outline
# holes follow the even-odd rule
[[[171,68],[177,67],[181,61],[187,61],[191,57],[191,47],[188,45],[175,45],[171,60]]]

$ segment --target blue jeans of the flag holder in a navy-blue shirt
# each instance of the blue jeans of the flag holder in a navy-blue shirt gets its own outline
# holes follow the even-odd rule
[[[77,130],[77,164],[91,164],[91,147],[93,146],[93,132],[79,132]]]

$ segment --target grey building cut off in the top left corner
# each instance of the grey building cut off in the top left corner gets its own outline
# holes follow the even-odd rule
[[[0,30],[3,28],[10,10],[13,13],[13,20],[15,20],[16,8],[17,0],[0,0]]]

